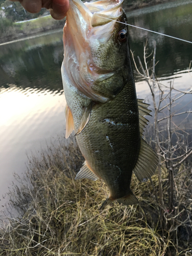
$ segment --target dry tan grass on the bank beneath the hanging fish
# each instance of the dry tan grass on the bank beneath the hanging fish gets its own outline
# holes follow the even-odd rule
[[[77,146],[65,146],[63,140],[30,159],[21,186],[9,193],[20,218],[9,218],[0,231],[0,255],[191,255],[189,169],[183,165],[175,179],[177,207],[160,216],[156,175],[145,183],[133,177],[139,205],[114,203],[99,211],[108,191],[101,181],[74,180],[82,162]]]

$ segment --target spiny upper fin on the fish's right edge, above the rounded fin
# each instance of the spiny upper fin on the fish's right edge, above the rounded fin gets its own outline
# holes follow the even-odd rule
[[[147,125],[148,120],[144,116],[151,116],[151,110],[148,110],[150,104],[144,103],[143,99],[137,99],[138,110],[139,110],[139,127],[141,137],[143,135],[144,127]]]

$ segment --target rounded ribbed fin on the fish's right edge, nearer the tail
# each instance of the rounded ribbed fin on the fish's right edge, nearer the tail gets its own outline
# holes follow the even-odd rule
[[[147,181],[154,175],[158,164],[158,156],[150,145],[141,138],[139,157],[134,168],[134,173],[139,181]]]

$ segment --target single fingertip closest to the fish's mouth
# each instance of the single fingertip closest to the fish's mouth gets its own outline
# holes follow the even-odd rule
[[[54,19],[62,19],[69,9],[69,0],[53,0],[50,14]]]

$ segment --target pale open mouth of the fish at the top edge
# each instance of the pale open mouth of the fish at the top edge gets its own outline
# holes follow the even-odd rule
[[[99,27],[102,27],[103,30],[103,25],[106,24],[109,26],[105,26],[104,37],[109,39],[116,20],[123,14],[123,0],[99,0],[89,3],[82,3],[81,0],[69,0],[69,3],[67,22],[70,24],[71,32],[74,35],[78,34],[78,37],[84,38],[84,40],[88,40],[92,34],[90,33],[91,30],[97,37],[97,34],[101,32]],[[79,42],[81,43],[81,40]]]

